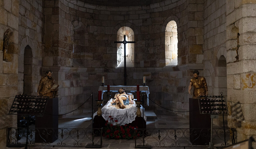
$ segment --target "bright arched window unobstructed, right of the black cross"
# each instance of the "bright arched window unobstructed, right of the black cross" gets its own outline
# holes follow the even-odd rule
[[[178,34],[177,24],[170,21],[165,29],[165,65],[176,66],[178,64]]]

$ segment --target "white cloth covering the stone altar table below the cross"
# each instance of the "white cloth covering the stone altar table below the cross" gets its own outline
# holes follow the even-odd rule
[[[118,90],[120,88],[123,88],[127,91],[130,90],[131,93],[137,91],[137,86],[122,86],[122,85],[110,86],[110,91],[118,92]],[[107,86],[99,86],[99,90],[102,91],[102,95],[103,95],[104,91],[107,91]],[[149,88],[148,88],[148,86],[140,86],[140,91],[145,92],[147,94],[147,105],[149,106],[149,101],[148,101]],[[102,98],[102,95],[101,95],[101,98]]]

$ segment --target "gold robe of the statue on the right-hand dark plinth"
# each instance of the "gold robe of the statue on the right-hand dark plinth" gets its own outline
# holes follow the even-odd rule
[[[197,98],[199,95],[206,95],[208,88],[205,77],[198,76],[197,79],[193,77],[190,79],[190,82],[194,87],[193,98]]]

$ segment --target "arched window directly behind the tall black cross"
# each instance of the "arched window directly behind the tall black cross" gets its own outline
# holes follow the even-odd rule
[[[130,27],[123,26],[117,31],[117,41],[134,41],[134,32]],[[134,67],[134,44],[126,43],[126,67]],[[117,43],[117,67],[124,67],[124,44]]]

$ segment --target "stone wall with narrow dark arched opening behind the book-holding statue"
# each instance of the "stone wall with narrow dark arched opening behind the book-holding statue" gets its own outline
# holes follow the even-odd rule
[[[41,79],[43,1],[19,3],[18,92],[37,95]]]

